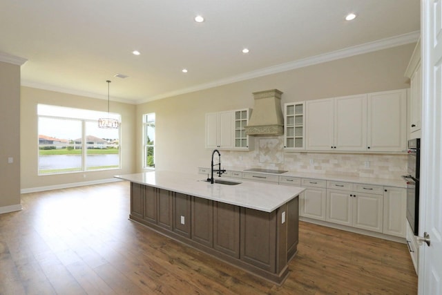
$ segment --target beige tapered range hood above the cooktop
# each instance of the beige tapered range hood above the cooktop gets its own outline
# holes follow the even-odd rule
[[[281,111],[281,95],[278,89],[253,93],[255,106],[249,124],[245,127],[247,135],[282,135],[284,119]]]

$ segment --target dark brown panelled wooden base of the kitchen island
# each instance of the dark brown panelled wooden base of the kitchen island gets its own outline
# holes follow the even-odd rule
[[[298,245],[296,196],[271,212],[131,182],[131,220],[281,284]]]

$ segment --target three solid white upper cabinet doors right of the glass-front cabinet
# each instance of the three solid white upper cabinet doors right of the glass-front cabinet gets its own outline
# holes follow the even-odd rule
[[[405,150],[405,89],[316,99],[305,105],[307,151]]]

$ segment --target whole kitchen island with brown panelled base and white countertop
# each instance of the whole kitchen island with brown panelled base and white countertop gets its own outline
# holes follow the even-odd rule
[[[170,171],[115,177],[131,182],[131,220],[273,283],[287,277],[304,189],[248,180],[211,184]]]

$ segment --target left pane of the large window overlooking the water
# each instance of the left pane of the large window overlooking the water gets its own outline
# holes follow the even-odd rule
[[[81,121],[39,117],[39,174],[81,171]]]

